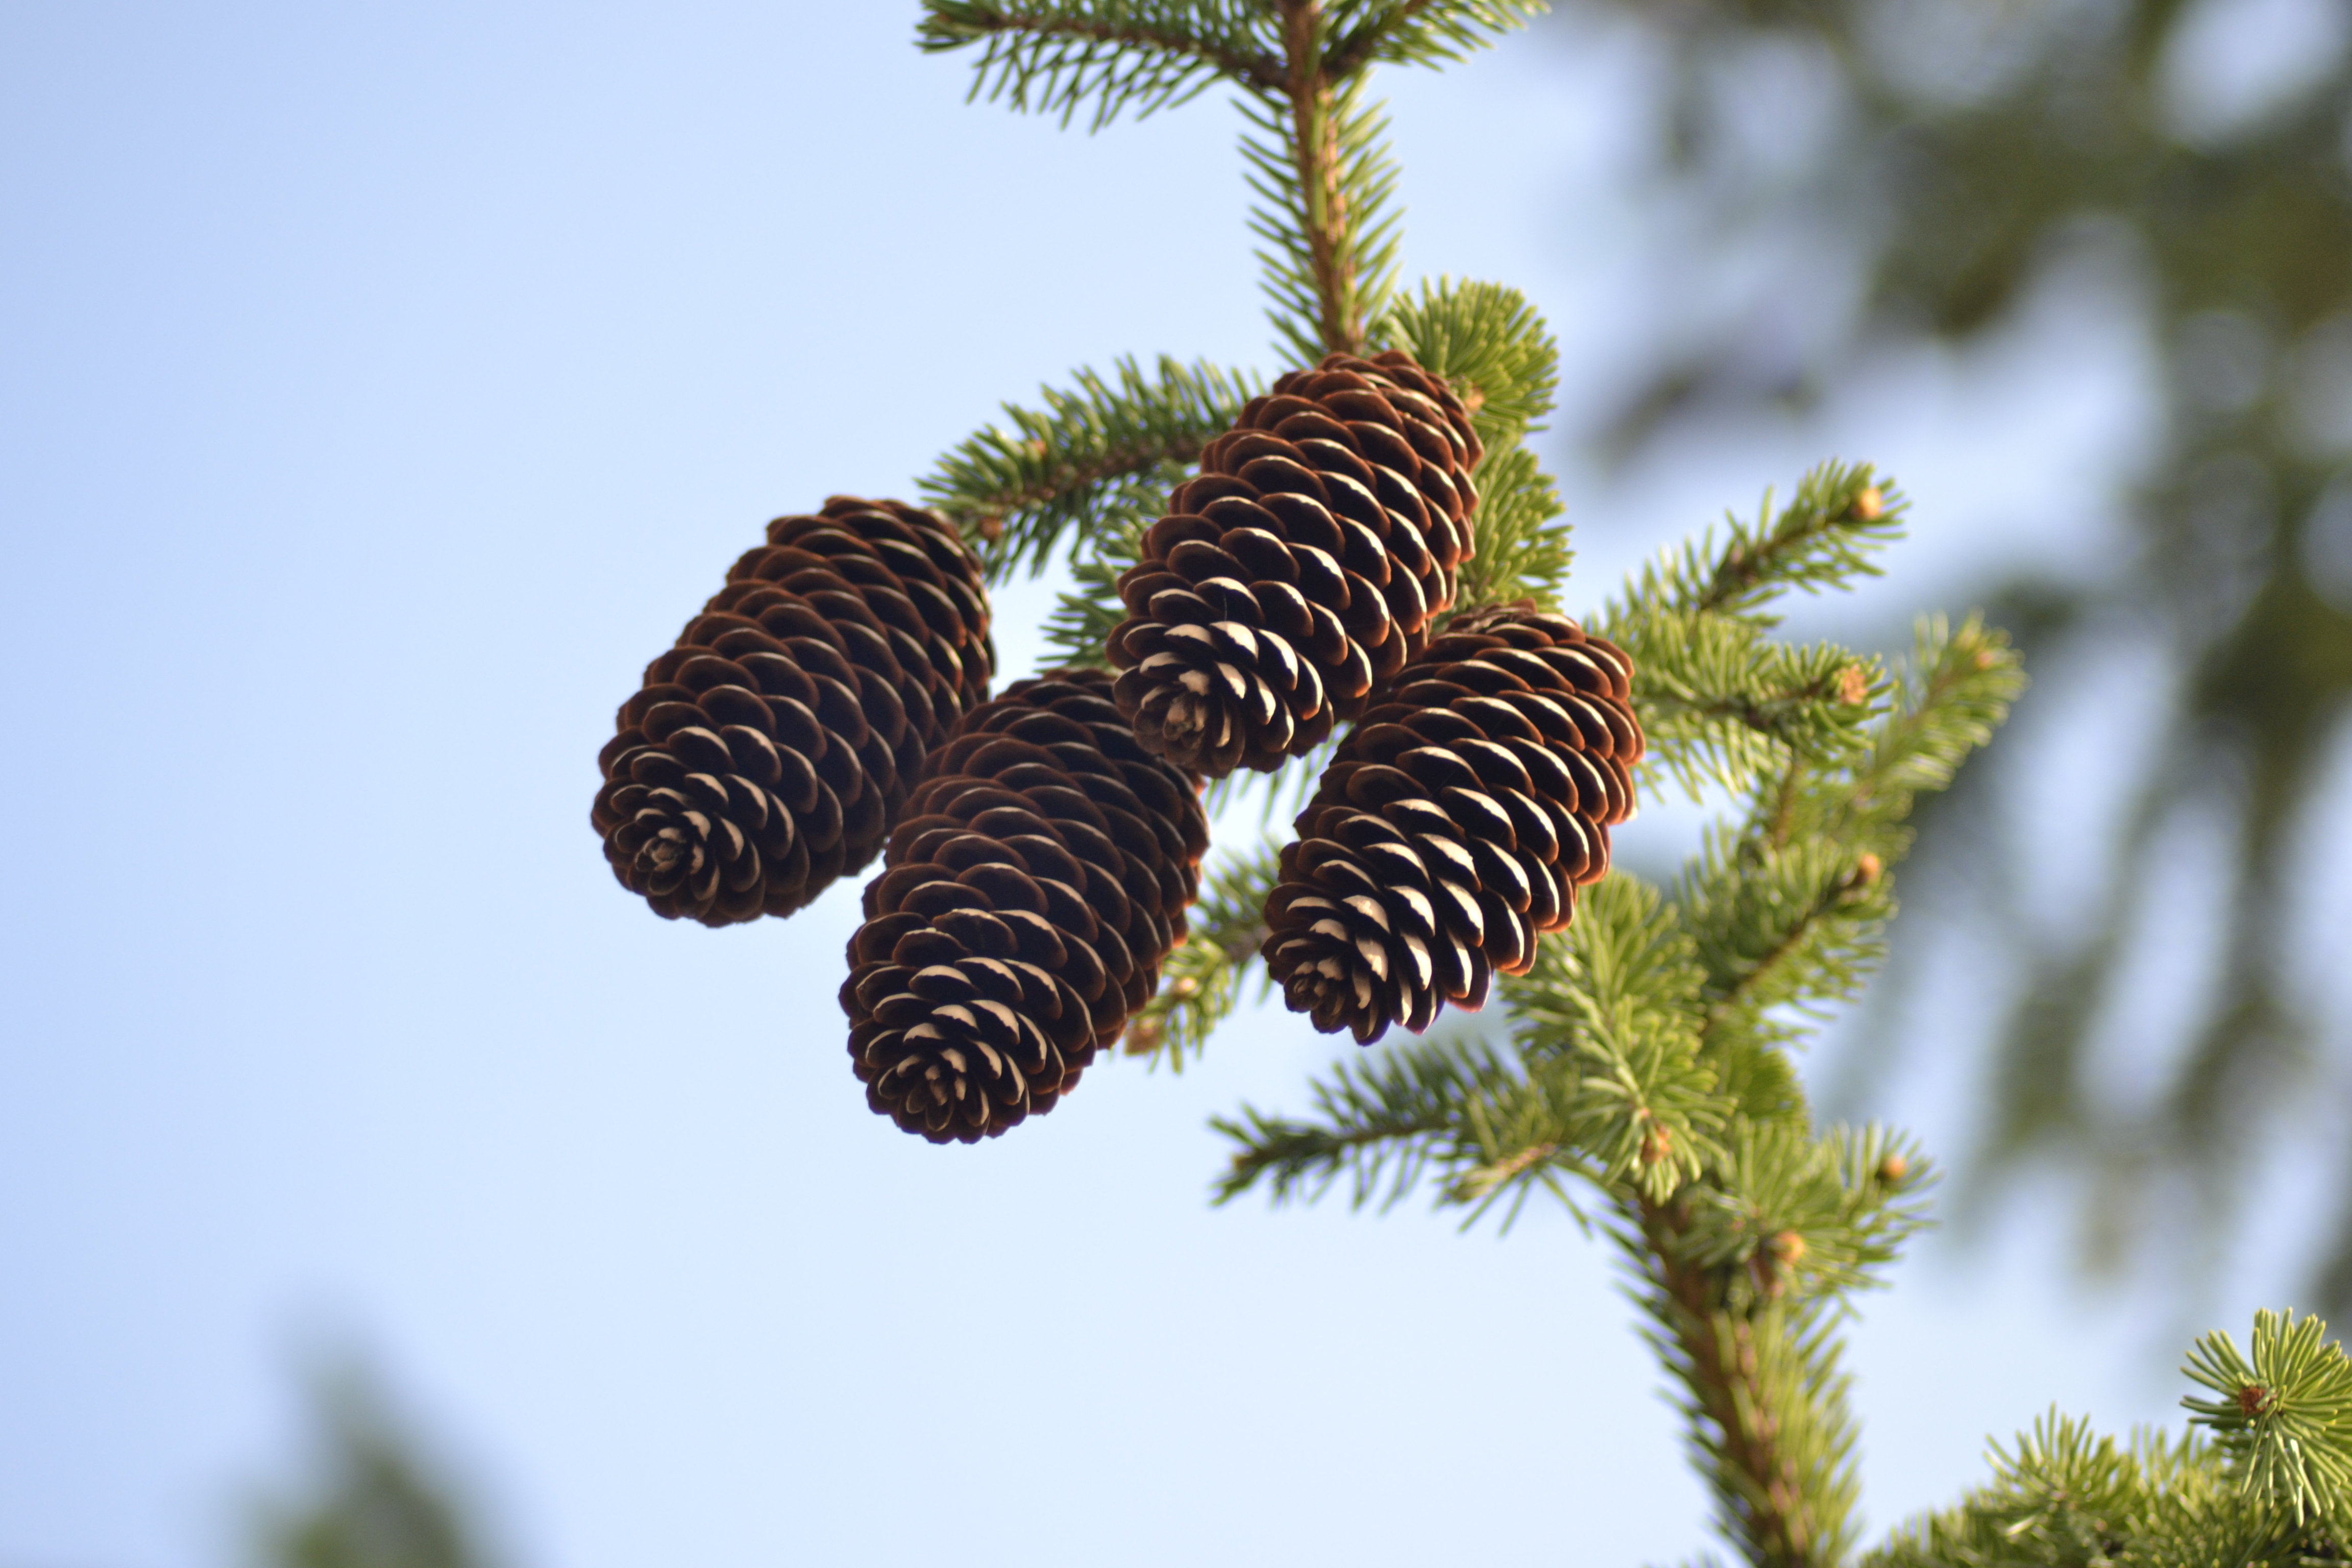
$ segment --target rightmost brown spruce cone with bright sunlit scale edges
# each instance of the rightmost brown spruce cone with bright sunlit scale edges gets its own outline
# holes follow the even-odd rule
[[[1526,973],[1635,811],[1632,661],[1566,616],[1461,616],[1338,748],[1265,900],[1294,1013],[1371,1044]]]

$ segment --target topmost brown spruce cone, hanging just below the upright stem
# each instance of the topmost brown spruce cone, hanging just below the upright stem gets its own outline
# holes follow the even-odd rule
[[[1399,350],[1254,397],[1120,578],[1105,651],[1143,748],[1223,778],[1362,715],[1454,607],[1482,456],[1461,400]]]

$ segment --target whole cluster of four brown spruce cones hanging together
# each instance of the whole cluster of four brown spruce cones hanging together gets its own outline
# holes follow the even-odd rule
[[[1404,353],[1291,371],[1145,534],[1115,675],[997,696],[948,520],[854,496],[779,517],[621,705],[604,858],[656,914],[724,926],[880,853],[849,1058],[875,1112],[974,1143],[1054,1110],[1150,1001],[1200,893],[1204,780],[1350,724],[1282,851],[1268,969],[1364,1044],[1475,1009],[1606,875],[1642,759],[1618,649],[1526,604],[1439,625],[1479,458]]]

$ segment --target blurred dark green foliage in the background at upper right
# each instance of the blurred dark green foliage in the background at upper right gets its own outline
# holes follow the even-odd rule
[[[2093,581],[2013,578],[1997,618],[2053,710],[2091,677],[2086,654],[2131,646],[2145,679],[2169,686],[2161,741],[2079,910],[2030,907],[2027,867],[1985,856],[2016,844],[1999,825],[2056,766],[2037,745],[2053,736],[2034,724],[1924,816],[1915,893],[1966,891],[1924,903],[1973,910],[1969,936],[2011,961],[1990,978],[2013,985],[2016,1004],[1990,1070],[1973,1194],[2060,1166],[2079,1180],[2091,1258],[2169,1246],[2211,1262],[2244,1213],[2253,1161],[2324,1091],[2324,1044],[2352,1046],[2347,1020],[2300,994],[2291,964],[2314,938],[2352,957],[2352,933],[2293,929],[2328,875],[2300,830],[2328,795],[2352,696],[2347,7],[1581,7],[1585,26],[1599,14],[1632,16],[1675,66],[1661,197],[1689,202],[1705,230],[1682,263],[1778,256],[1788,284],[1663,350],[1606,421],[1606,451],[1628,456],[1726,409],[1818,400],[1889,346],[1990,339],[2084,256],[2131,280],[2161,397],[2124,498],[2133,538]],[[2253,68],[2265,56],[2267,80]],[[1816,129],[1788,132],[1795,122]],[[2230,865],[2192,903],[2218,912],[2218,983],[2171,1039],[2133,1032],[2131,1053],[2161,1081],[2129,1105],[2100,1088],[2091,1046],[2117,1027],[2131,964],[2180,922],[2178,903],[2157,903],[2176,898],[2157,879],[2178,875],[2180,832],[2216,823]],[[2352,1143],[2331,1145],[2319,1159],[2347,1161]],[[2314,1293],[2343,1307],[2352,1164],[2331,1180],[2343,1199],[2307,1265]],[[2183,1190],[2192,1225],[2176,1220],[2183,1204],[2159,1201]]]

